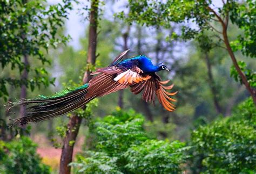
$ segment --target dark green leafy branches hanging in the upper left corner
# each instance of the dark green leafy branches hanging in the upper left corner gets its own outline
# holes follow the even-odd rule
[[[0,54],[1,67],[3,70],[21,74],[24,69],[33,74],[30,79],[16,77],[0,78],[0,97],[8,96],[6,85],[21,86],[35,89],[43,84],[49,86],[54,79],[48,77],[48,71],[43,67],[26,65],[23,56],[33,57],[33,62],[40,61],[42,64],[50,63],[44,51],[49,47],[60,43],[66,43],[69,37],[58,35],[57,30],[64,25],[68,10],[72,9],[69,0],[63,0],[62,4],[46,6],[46,1],[11,0],[1,1],[0,5]]]

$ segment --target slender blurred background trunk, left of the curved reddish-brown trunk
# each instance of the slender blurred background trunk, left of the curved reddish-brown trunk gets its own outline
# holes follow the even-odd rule
[[[211,65],[208,53],[205,53],[205,62],[206,62],[206,66],[207,66],[208,84],[209,84],[211,92],[212,92],[213,103],[214,103],[217,113],[221,114],[223,112],[222,112],[222,108],[219,104],[219,98],[217,97],[218,89],[216,89],[216,86],[214,83],[214,79],[213,79],[213,75],[212,75],[212,65]]]

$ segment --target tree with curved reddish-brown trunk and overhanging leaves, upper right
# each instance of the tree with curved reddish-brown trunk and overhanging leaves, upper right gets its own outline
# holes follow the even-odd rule
[[[256,105],[255,73],[246,69],[245,63],[239,62],[234,53],[240,50],[246,56],[256,57],[255,49],[253,49],[256,42],[254,3],[251,0],[242,3],[227,0],[223,1],[221,7],[213,9],[213,5],[212,1],[180,2],[170,0],[165,3],[145,0],[129,1],[130,12],[125,20],[129,23],[137,21],[148,26],[162,25],[167,28],[170,27],[171,22],[192,21],[197,24],[198,28],[184,25],[181,33],[171,35],[173,39],[177,39],[179,36],[185,40],[197,39],[204,32],[212,31],[211,37],[217,37],[218,41],[211,44],[227,50],[234,67],[231,75],[235,77],[236,81],[245,85]],[[124,19],[124,12],[120,12],[119,17]],[[228,38],[229,20],[242,32],[233,41]],[[220,27],[216,28],[212,23],[217,23]]]

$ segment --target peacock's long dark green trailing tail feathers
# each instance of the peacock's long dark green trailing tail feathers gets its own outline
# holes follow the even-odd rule
[[[25,116],[14,119],[10,127],[14,125],[26,125],[29,122],[49,120],[76,110],[96,97],[86,95],[88,86],[89,84],[84,84],[78,88],[64,90],[49,97],[39,96],[36,99],[21,99],[18,102],[10,102],[7,105],[8,111],[11,107],[28,106]]]

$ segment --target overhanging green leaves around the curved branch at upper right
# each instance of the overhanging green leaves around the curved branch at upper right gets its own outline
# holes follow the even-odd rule
[[[223,4],[223,7],[216,10],[221,17],[229,13],[230,16],[228,17],[232,23],[242,30],[243,34],[237,37],[241,47],[237,48],[241,48],[243,54],[251,57],[256,56],[254,49],[256,44],[256,10],[253,2],[252,0],[246,0],[242,3],[234,0],[228,1]],[[212,5],[212,1],[129,1],[128,18],[125,18],[124,12],[118,13],[117,16],[128,23],[136,21],[142,25],[164,26],[167,28],[171,27],[171,22],[183,23],[192,20],[193,23],[198,25],[199,30],[184,25],[180,37],[186,40],[200,37],[205,31],[217,32],[211,25],[215,20],[215,15],[208,7]],[[174,33],[174,35],[177,35],[177,33]]]

